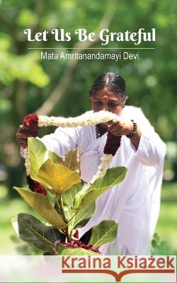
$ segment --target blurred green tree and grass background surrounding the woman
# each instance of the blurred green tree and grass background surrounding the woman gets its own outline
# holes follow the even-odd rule
[[[35,213],[12,189],[25,187],[23,159],[16,144],[16,131],[31,112],[42,115],[76,116],[90,109],[86,98],[96,76],[115,71],[127,82],[127,104],[141,107],[166,142],[161,212],[152,243],[152,254],[177,252],[177,64],[176,0],[0,0],[0,254],[38,254],[18,240],[11,216]],[[64,28],[72,41],[28,42],[23,30]],[[155,50],[140,50],[139,60],[69,61],[40,60],[41,50],[28,47],[60,47],[55,52],[81,52],[64,48],[101,47],[77,42],[77,28],[89,33],[137,31],[156,28]],[[111,42],[106,47],[135,47],[131,42]],[[141,47],[147,47],[147,42]],[[98,52],[99,50],[82,50]],[[103,50],[102,50],[103,52]],[[107,52],[105,50],[105,52]],[[115,50],[113,50],[115,52]],[[39,135],[53,128],[40,129]]]

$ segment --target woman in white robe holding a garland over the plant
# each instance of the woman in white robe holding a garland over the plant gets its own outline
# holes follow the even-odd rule
[[[98,198],[96,214],[79,229],[79,236],[104,219],[115,219],[119,223],[118,238],[114,243],[103,245],[102,253],[148,254],[159,215],[166,146],[139,108],[125,106],[125,81],[118,74],[98,76],[89,91],[89,99],[93,112],[108,110],[120,116],[120,121],[96,127],[57,128],[55,133],[42,137],[41,141],[58,155],[79,149],[81,178],[89,182],[103,156],[107,132],[122,136],[110,167],[127,167],[126,178]],[[35,134],[20,127],[18,143],[27,146],[26,137]]]

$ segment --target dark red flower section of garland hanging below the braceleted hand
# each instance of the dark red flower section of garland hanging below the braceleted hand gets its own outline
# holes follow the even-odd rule
[[[121,137],[122,136],[114,136],[108,131],[104,154],[112,154],[113,156],[115,156],[118,148],[120,147]]]

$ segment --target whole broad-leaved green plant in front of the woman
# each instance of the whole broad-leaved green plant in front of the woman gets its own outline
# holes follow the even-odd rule
[[[78,229],[95,214],[96,199],[124,180],[127,168],[110,168],[89,184],[80,178],[76,150],[57,156],[39,139],[28,138],[28,155],[30,188],[14,188],[44,221],[30,214],[18,214],[12,221],[18,227],[18,236],[52,255],[98,255],[101,245],[112,243],[117,237],[118,222],[101,221],[81,238]]]

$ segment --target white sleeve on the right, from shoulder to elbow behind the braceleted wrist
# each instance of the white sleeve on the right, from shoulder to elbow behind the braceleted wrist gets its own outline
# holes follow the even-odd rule
[[[164,159],[166,154],[166,144],[164,144],[159,135],[156,134],[154,127],[152,127],[144,116],[142,110],[138,108],[135,122],[137,122],[137,126],[142,132],[137,151],[132,143],[130,143],[135,150],[135,154],[139,158],[139,161],[145,166],[159,165],[160,160]]]

